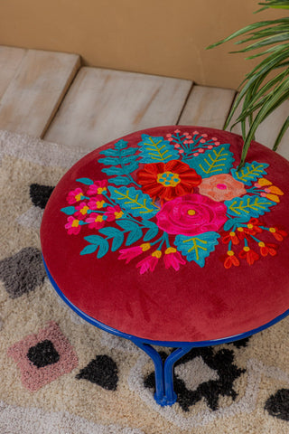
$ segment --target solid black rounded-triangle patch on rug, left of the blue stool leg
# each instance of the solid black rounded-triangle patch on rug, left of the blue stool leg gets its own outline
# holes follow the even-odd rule
[[[107,391],[116,391],[118,375],[117,363],[106,354],[97,355],[88,366],[81,369],[76,378],[89,380]]]

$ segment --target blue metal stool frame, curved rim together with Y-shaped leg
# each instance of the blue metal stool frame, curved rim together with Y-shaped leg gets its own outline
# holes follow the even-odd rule
[[[175,341],[152,341],[149,339],[142,339],[140,337],[134,335],[127,335],[126,333],[120,332],[115,328],[112,328],[108,325],[100,323],[97,319],[93,318],[82,312],[78,307],[74,306],[70,300],[64,296],[61,289],[57,286],[55,280],[52,278],[49,269],[43,259],[44,267],[47,272],[47,276],[51,281],[51,284],[58,295],[62,298],[63,301],[81,318],[88,321],[90,324],[97,326],[98,328],[105,330],[112,335],[117,335],[120,337],[124,337],[132,341],[136,346],[144,351],[144,353],[148,354],[154,362],[154,373],[155,373],[155,393],[154,399],[155,401],[162,405],[172,405],[177,400],[177,395],[173,391],[173,366],[174,363],[177,362],[184,354],[189,353],[192,348],[200,347],[200,346],[210,346],[217,344],[228,344],[229,342],[238,341],[239,339],[244,339],[248,336],[255,335],[262,330],[274,325],[278,321],[284,319],[285,316],[289,315],[289,309],[284,312],[284,314],[280,316],[276,316],[275,319],[266,323],[265,325],[261,325],[260,327],[250,330],[246,333],[242,333],[240,335],[228,336],[221,339],[215,339],[211,341],[200,341],[200,342],[175,342]],[[152,345],[161,345],[168,346],[171,348],[175,348],[175,350],[167,356],[164,363],[163,360],[155,350]]]

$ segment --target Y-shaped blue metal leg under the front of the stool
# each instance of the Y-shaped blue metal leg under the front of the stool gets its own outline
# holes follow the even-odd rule
[[[164,363],[162,357],[150,344],[133,341],[144,353],[148,354],[154,362],[154,376],[155,376],[155,401],[164,406],[172,405],[177,401],[177,395],[173,391],[173,365],[184,354],[187,354],[193,345],[185,346],[175,349],[167,356]]]

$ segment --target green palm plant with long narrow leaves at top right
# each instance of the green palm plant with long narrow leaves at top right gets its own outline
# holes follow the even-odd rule
[[[259,2],[258,5],[263,7],[256,12],[267,8],[289,9],[289,0],[265,0]],[[247,151],[251,141],[254,140],[257,127],[284,100],[289,98],[289,16],[249,24],[222,41],[210,45],[208,49],[239,36],[243,37],[243,35],[245,35],[245,38],[234,43],[236,45],[245,43],[247,46],[236,52],[258,50],[258,52],[246,59],[255,59],[260,56],[265,56],[265,58],[246,74],[245,79],[239,86],[238,98],[230,109],[224,126],[224,129],[228,127],[236,109],[241,105],[241,113],[234,125],[232,125],[234,127],[240,122],[242,127],[244,146],[239,168],[245,163]],[[266,50],[262,51],[264,48]],[[284,120],[284,124],[275,140],[274,150],[277,149],[288,127],[289,116]]]

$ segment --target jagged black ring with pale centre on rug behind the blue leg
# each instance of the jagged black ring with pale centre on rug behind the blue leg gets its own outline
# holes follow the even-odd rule
[[[167,354],[159,353],[164,361]],[[190,390],[187,384],[175,373],[173,376],[173,387],[178,398],[177,402],[182,410],[189,411],[191,405],[204,398],[210,407],[210,410],[219,409],[219,396],[230,396],[233,401],[236,400],[238,393],[234,390],[235,380],[245,373],[245,369],[240,369],[234,364],[235,354],[228,349],[215,351],[213,347],[193,348],[190,353],[185,354],[182,359],[175,363],[175,367],[200,357],[202,363],[205,363],[213,373],[216,373],[216,380],[200,382],[198,387]],[[154,373],[150,373],[144,379],[144,386],[154,388]]]

